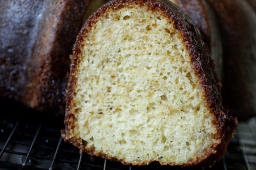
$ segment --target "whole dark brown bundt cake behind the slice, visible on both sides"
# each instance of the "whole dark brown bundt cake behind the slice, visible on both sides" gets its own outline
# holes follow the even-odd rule
[[[210,47],[223,82],[225,106],[239,118],[256,115],[255,11],[240,0],[171,1],[191,17]],[[255,0],[247,2],[255,9]],[[80,25],[103,3],[104,0],[0,1],[0,98],[14,99],[37,110],[64,113],[68,55]]]

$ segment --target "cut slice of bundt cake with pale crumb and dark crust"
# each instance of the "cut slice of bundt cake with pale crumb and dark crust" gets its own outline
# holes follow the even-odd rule
[[[124,164],[212,165],[237,120],[207,46],[169,0],[114,0],[80,31],[67,90],[65,141]]]

